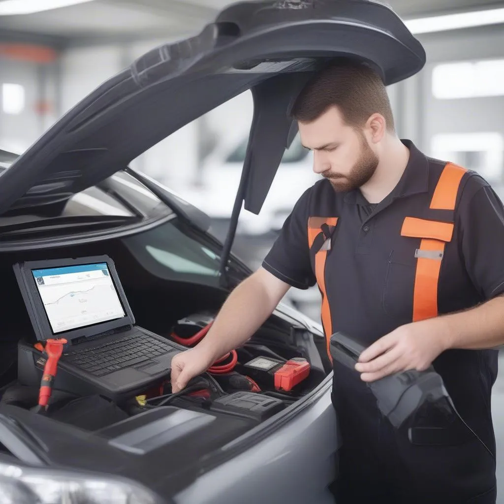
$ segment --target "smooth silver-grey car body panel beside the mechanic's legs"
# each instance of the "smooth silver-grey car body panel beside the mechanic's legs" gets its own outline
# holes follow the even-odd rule
[[[174,495],[177,504],[330,504],[341,445],[330,390],[274,435]],[[273,478],[272,478],[273,476]]]

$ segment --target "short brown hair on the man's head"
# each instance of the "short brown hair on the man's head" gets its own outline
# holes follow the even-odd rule
[[[318,72],[297,97],[291,115],[301,122],[311,122],[334,105],[353,128],[363,127],[378,112],[385,117],[387,129],[395,131],[394,115],[381,77],[359,62],[333,62]]]

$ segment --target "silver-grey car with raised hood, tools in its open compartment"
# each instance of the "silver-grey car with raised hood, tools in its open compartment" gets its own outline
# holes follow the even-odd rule
[[[182,332],[204,337],[229,292],[251,274],[230,250],[241,207],[260,212],[295,137],[287,113],[293,98],[328,58],[349,54],[373,65],[387,84],[425,62],[419,42],[380,3],[239,3],[199,35],[155,48],[111,77],[19,157],[2,153],[3,502],[334,500],[340,437],[331,402],[331,335],[320,324],[280,303],[223,361],[226,372],[209,369],[198,377],[198,390],[187,387],[178,395],[168,392],[168,368],[158,368],[162,377],[131,397],[78,393],[70,382],[58,382],[69,369],[67,347],[46,410],[39,404],[40,382],[32,379],[43,380],[45,394],[53,380],[42,374],[49,343],[35,338],[41,329],[27,308],[33,297],[21,290],[15,267],[106,256],[136,324],[174,351],[191,346]],[[204,212],[128,165],[247,89],[254,119],[222,243],[208,232]],[[86,303],[79,294],[65,296]],[[82,313],[87,317],[85,308]],[[53,336],[49,332],[45,338]],[[112,369],[150,350],[126,352],[96,365]]]

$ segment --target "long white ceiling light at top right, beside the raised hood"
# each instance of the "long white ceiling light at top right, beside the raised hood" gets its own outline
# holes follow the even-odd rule
[[[430,18],[410,19],[404,22],[411,33],[432,33],[473,26],[496,25],[504,23],[504,9],[447,14]]]

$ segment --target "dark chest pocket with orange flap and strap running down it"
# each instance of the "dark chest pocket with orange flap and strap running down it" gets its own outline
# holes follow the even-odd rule
[[[401,324],[437,314],[439,270],[453,223],[406,217],[389,255],[383,309]]]

